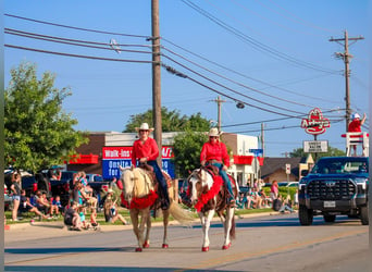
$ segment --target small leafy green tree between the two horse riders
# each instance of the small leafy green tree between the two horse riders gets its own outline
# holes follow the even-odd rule
[[[208,140],[206,133],[187,131],[174,137],[173,153],[176,176],[186,177],[200,166],[200,151]]]

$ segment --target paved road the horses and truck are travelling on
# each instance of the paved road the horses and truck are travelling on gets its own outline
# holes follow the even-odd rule
[[[131,226],[102,232],[69,232],[58,224],[24,225],[5,232],[7,271],[368,271],[368,226],[360,222],[300,226],[296,214],[237,220],[237,239],[221,250],[222,225],[211,228],[209,252],[201,252],[201,227],[174,224],[170,248],[161,248],[162,227],[151,247],[134,252]]]

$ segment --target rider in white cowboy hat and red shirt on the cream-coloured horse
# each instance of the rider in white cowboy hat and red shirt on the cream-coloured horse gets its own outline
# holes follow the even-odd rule
[[[159,183],[160,193],[163,198],[161,201],[161,209],[166,210],[170,207],[170,197],[168,194],[166,181],[157,162],[159,148],[157,141],[149,137],[149,134],[153,128],[149,128],[148,123],[142,123],[140,127],[136,127],[136,131],[139,134],[139,139],[135,140],[133,144],[132,165],[136,166],[136,162],[138,160],[139,165],[147,163],[153,168],[153,172]]]

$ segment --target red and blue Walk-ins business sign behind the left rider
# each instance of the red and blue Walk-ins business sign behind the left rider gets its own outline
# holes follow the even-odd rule
[[[162,169],[172,177],[174,174],[173,148],[162,147]],[[119,166],[132,166],[132,147],[103,147],[102,148],[102,176],[104,180],[120,177]]]

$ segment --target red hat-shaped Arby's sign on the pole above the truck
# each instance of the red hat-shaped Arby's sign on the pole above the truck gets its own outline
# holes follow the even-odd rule
[[[323,113],[319,108],[314,108],[309,112],[308,119],[302,119],[301,127],[308,134],[318,135],[325,133],[326,127],[331,127],[330,120],[323,118]]]

